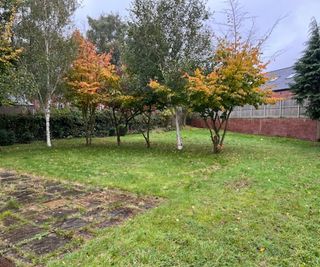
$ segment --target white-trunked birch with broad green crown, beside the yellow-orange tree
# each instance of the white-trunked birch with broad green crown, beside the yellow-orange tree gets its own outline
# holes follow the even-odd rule
[[[183,74],[209,57],[208,18],[206,2],[201,0],[135,0],[131,7],[126,63],[142,88],[150,80],[170,87],[172,97],[167,104],[176,117],[178,149],[183,148],[179,117],[186,104]]]

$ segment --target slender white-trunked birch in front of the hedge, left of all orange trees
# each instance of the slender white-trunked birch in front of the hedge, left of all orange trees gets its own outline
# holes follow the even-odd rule
[[[48,147],[52,145],[52,102],[74,58],[69,26],[77,7],[77,0],[26,0],[19,11],[17,44],[24,48],[22,62],[37,84],[36,94],[45,114]]]

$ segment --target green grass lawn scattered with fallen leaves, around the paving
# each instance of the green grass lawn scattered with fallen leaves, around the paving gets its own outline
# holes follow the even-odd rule
[[[2,148],[0,167],[165,198],[49,266],[320,266],[320,145],[206,130]]]

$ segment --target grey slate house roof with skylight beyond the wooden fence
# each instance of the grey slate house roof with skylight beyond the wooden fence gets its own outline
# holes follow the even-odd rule
[[[270,78],[267,86],[271,86],[272,90],[275,92],[289,90],[290,83],[293,83],[294,81],[294,75],[295,70],[293,67],[271,71],[267,73],[267,76]]]

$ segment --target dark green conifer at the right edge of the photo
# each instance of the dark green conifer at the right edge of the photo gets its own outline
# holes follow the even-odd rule
[[[310,39],[303,56],[294,65],[296,76],[291,90],[295,99],[307,105],[307,115],[320,120],[320,26],[315,19],[310,24]]]

